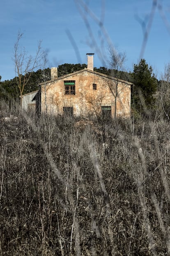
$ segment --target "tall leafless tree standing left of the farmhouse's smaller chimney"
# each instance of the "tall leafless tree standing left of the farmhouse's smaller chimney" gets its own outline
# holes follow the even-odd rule
[[[44,55],[41,48],[41,41],[39,41],[37,46],[37,51],[35,56],[28,55],[24,47],[21,47],[20,41],[23,38],[23,33],[18,32],[16,43],[14,45],[14,56],[13,61],[15,64],[15,75],[16,83],[19,88],[19,92],[22,95],[25,85],[28,84],[33,71],[40,66],[40,62]]]

